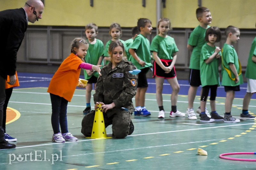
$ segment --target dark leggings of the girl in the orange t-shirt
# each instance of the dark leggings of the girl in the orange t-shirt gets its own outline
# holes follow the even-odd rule
[[[67,106],[68,101],[63,97],[50,93],[52,102],[52,129],[53,133],[68,133]]]

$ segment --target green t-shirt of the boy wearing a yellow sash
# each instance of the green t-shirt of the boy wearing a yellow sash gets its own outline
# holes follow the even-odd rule
[[[231,77],[235,78],[234,73],[232,72],[232,70],[229,67],[229,63],[233,63],[235,65],[237,73],[240,72],[238,56],[237,56],[234,46],[231,46],[231,45],[225,43],[224,46],[222,47],[222,64],[221,64],[222,81],[221,81],[221,85],[222,86],[238,86],[240,84],[243,84],[244,81],[243,81],[242,74],[239,75],[239,81],[237,83],[235,83],[235,81],[233,81],[228,76],[228,72],[223,67],[223,64],[228,70],[230,70]]]

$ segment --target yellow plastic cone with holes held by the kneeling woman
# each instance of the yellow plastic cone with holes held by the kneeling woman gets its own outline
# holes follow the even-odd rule
[[[105,122],[103,118],[103,112],[102,109],[99,109],[101,107],[101,104],[98,104],[98,109],[95,111],[93,126],[92,126],[92,136],[86,137],[86,138],[92,138],[92,139],[105,139],[105,138],[112,138],[107,137],[106,128],[105,128]]]

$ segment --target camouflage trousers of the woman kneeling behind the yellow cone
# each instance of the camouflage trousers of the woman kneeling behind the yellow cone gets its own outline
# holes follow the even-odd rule
[[[109,110],[109,112],[112,110]],[[114,110],[113,110],[114,111]],[[105,127],[107,128],[112,124],[112,137],[124,138],[129,134],[131,114],[125,110],[115,110],[111,117],[107,117],[106,113],[103,113]],[[84,136],[89,137],[92,135],[92,126],[94,122],[95,110],[84,116],[82,120],[81,132]]]

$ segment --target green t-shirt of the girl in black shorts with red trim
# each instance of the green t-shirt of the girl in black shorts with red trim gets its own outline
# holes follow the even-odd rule
[[[164,38],[156,35],[151,42],[150,51],[157,52],[157,56],[160,59],[172,60],[173,53],[176,53],[179,50],[172,37],[167,36]]]

